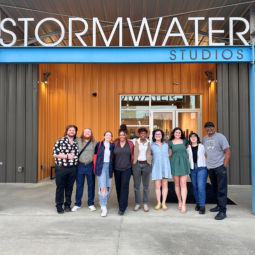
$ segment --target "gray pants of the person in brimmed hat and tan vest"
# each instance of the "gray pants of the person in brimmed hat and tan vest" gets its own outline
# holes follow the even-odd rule
[[[135,204],[141,204],[140,186],[143,181],[143,204],[149,204],[149,184],[151,176],[151,165],[136,163],[133,165],[133,179],[135,190]]]

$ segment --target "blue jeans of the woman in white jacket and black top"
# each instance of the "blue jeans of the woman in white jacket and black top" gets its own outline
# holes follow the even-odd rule
[[[194,164],[194,169],[190,169],[190,179],[197,204],[205,206],[207,168]]]

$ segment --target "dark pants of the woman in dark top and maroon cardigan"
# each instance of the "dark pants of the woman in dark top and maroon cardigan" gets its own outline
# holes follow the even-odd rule
[[[129,181],[132,173],[132,168],[129,168],[125,171],[114,170],[114,173],[119,210],[124,212],[128,205]]]

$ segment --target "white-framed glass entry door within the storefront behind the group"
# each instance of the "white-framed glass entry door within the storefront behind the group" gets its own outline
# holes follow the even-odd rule
[[[175,127],[175,111],[174,110],[152,110],[151,111],[150,130],[162,129],[165,133],[165,139],[170,138],[170,133]],[[151,132],[152,133],[152,132]]]

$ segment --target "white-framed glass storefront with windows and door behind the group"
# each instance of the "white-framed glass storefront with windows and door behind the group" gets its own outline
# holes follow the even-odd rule
[[[129,139],[138,126],[162,129],[165,138],[180,127],[188,138],[191,132],[202,137],[201,95],[121,95],[121,124],[126,124]],[[152,134],[151,134],[152,136]]]

